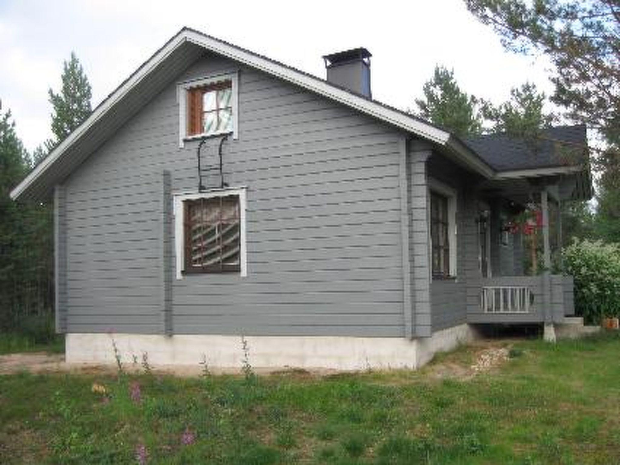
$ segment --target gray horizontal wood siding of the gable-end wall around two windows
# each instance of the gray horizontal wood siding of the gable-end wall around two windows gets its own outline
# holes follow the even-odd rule
[[[223,145],[224,177],[247,186],[248,275],[177,280],[162,198],[197,189],[198,141],[179,149],[176,82],[236,71],[239,139]],[[402,337],[401,140],[327,99],[201,58],[68,179],[69,330]],[[207,164],[218,142],[205,144]]]

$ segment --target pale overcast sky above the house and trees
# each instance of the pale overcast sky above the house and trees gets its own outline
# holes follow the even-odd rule
[[[495,102],[525,81],[552,90],[547,62],[504,51],[462,0],[0,0],[2,112],[32,150],[51,136],[47,91],[60,88],[72,50],[95,107],[184,25],[321,77],[322,55],[366,47],[373,97],[403,109],[415,108],[435,64]]]

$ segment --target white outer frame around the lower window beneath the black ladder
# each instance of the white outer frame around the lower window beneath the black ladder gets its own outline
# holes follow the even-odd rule
[[[227,197],[228,195],[239,196],[239,259],[241,277],[247,276],[247,246],[246,246],[246,206],[247,206],[247,188],[241,187],[226,187],[223,189],[211,189],[205,192],[182,192],[173,194],[174,202],[174,252],[175,252],[175,264],[177,270],[177,280],[185,277],[183,271],[185,267],[185,228],[184,228],[184,208],[183,202],[185,200],[198,200],[200,198],[213,198],[213,197]],[[205,273],[206,275],[210,273]],[[200,275],[203,276],[203,275]]]

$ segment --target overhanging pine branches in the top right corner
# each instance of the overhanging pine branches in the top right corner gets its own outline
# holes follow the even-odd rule
[[[620,242],[620,2],[618,0],[464,0],[508,50],[543,53],[554,65],[551,100],[598,131],[595,231]]]

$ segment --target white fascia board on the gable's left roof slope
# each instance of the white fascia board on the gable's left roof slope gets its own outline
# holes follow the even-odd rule
[[[43,161],[30,172],[25,179],[20,182],[13,190],[11,190],[10,196],[12,200],[18,198],[22,193],[37,179],[42,172],[47,170],[49,166],[51,166],[56,160],[58,160],[68,149],[71,144],[74,143],[77,139],[79,139],[86,131],[88,131],[93,125],[99,122],[100,118],[105,115],[105,113],[113,107],[119,100],[123,99],[128,92],[133,89],[142,79],[148,76],[154,68],[159,65],[162,61],[166,60],[166,58],[176,50],[182,43],[186,40],[185,34],[180,33],[177,37],[172,38],[167,45],[161,50],[157,51],[157,53],[151,58],[149,61],[143,64],[142,68],[138,69],[135,74],[133,74],[127,81],[119,87],[115,92],[113,92],[107,99],[102,102],[99,107],[95,108],[94,112],[86,118],[86,120],[78,126],[76,130],[74,130],[69,136],[62,141],[62,143],[56,147],[51,153],[43,159]]]

